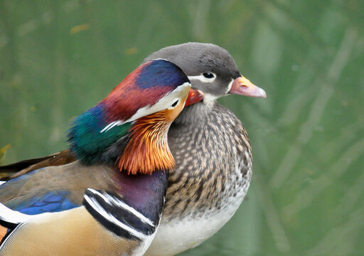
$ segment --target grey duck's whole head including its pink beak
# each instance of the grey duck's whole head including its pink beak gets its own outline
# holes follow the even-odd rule
[[[229,94],[267,97],[264,90],[243,77],[228,50],[211,43],[182,43],[151,53],[144,61],[164,58],[178,65],[191,81],[188,105],[215,102]],[[190,102],[191,101],[191,102]]]

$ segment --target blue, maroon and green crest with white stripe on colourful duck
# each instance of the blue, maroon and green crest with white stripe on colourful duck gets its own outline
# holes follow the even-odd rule
[[[114,161],[103,154],[105,150],[126,135],[136,119],[163,109],[164,96],[177,95],[176,85],[185,82],[188,78],[181,69],[166,60],[140,65],[104,100],[75,118],[68,134],[70,151],[84,164]],[[138,169],[129,171],[135,174]]]

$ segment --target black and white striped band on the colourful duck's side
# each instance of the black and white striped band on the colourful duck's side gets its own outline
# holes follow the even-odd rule
[[[113,193],[88,188],[83,205],[105,228],[127,239],[145,240],[156,231],[150,220]]]

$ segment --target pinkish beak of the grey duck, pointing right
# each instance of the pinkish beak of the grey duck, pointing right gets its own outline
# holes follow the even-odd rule
[[[253,83],[250,82],[250,80],[247,80],[247,78],[244,78],[243,76],[236,78],[232,82],[232,86],[229,93],[236,95],[245,95],[250,97],[262,97],[262,98],[267,97],[267,94],[264,92],[262,88],[257,87],[257,85],[253,85]]]

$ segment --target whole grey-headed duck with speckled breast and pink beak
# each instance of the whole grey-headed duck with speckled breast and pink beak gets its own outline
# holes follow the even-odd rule
[[[164,58],[178,65],[193,91],[168,131],[176,160],[169,171],[166,205],[156,236],[145,255],[176,255],[216,233],[240,206],[252,177],[252,151],[242,122],[216,100],[236,94],[266,97],[244,78],[224,48],[183,43],[151,53],[144,62]],[[74,161],[69,151],[2,167],[21,176],[39,167]],[[1,171],[1,167],[0,167]],[[1,197],[0,197],[1,201]]]

